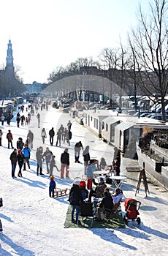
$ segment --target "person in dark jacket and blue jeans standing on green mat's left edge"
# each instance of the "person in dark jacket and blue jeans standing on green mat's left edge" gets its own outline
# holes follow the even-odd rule
[[[78,224],[78,219],[80,214],[80,202],[83,202],[83,196],[82,196],[82,192],[79,185],[80,185],[80,181],[75,181],[69,192],[69,202],[70,202],[70,205],[72,206],[71,220],[72,222],[75,222],[77,224]],[[75,210],[76,210],[76,219],[74,219]]]

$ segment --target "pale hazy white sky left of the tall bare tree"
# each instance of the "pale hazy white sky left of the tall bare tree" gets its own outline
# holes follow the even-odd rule
[[[58,66],[96,59],[103,48],[126,42],[138,4],[149,0],[0,0],[0,65],[12,42],[24,83],[47,82]]]

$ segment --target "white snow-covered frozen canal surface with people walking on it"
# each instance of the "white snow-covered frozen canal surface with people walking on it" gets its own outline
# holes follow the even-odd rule
[[[26,103],[25,103],[26,105]],[[17,113],[17,112],[16,112]],[[107,164],[112,163],[113,147],[97,138],[85,127],[77,124],[68,114],[61,113],[52,107],[48,112],[41,112],[40,128],[37,128],[37,114],[31,116],[29,127],[16,127],[15,116],[12,118],[10,127],[5,121],[2,145],[0,147],[0,197],[3,197],[4,206],[0,208],[0,219],[3,232],[0,234],[0,255],[23,255],[23,256],[55,256],[55,255],[167,255],[167,191],[162,187],[148,184],[150,194],[145,197],[144,187],[141,184],[140,192],[135,197],[138,173],[127,173],[126,166],[131,159],[121,160],[121,175],[127,176],[123,184],[125,197],[135,197],[140,200],[141,224],[129,222],[125,229],[81,229],[66,228],[64,221],[69,206],[67,197],[50,198],[48,196],[49,177],[46,174],[46,165],[43,163],[44,176],[37,176],[37,163],[35,158],[38,146],[46,146],[56,156],[56,165],[61,167],[60,157],[64,148],[69,148],[70,154],[70,180],[61,180],[60,173],[55,169],[57,187],[71,187],[76,176],[82,176],[84,168],[82,164],[75,163],[74,146],[79,140],[83,146],[90,146],[92,158],[104,157]],[[26,116],[26,111],[24,111]],[[54,127],[55,132],[61,124],[66,126],[69,119],[72,121],[71,146],[62,144],[56,147],[49,143],[49,130]],[[42,144],[41,129],[45,127],[47,139]],[[13,145],[19,137],[26,140],[28,129],[34,132],[36,137],[34,148],[31,152],[31,169],[23,171],[23,178],[11,177],[11,163],[9,156],[12,149],[7,148],[6,134],[11,129],[14,137]],[[83,162],[82,154],[80,160]],[[18,166],[15,174],[18,174]]]

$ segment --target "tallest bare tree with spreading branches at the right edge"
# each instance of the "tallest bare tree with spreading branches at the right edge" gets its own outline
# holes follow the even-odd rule
[[[142,7],[139,7],[139,26],[137,29],[131,29],[131,34],[142,89],[148,97],[153,96],[153,91],[156,92],[156,96],[159,95],[158,101],[161,102],[162,116],[165,120],[165,96],[168,89],[167,0],[153,0],[149,8],[146,17]]]

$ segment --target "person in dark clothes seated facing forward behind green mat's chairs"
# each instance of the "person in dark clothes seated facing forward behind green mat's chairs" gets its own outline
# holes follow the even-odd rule
[[[96,183],[94,178],[93,178],[93,184],[96,185],[96,189],[91,189],[90,193],[89,193],[89,197],[88,200],[91,201],[91,197],[102,197],[103,193],[104,193],[104,189],[107,187],[107,185],[104,183],[104,178],[100,177],[99,178],[99,183]]]

